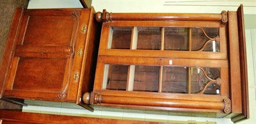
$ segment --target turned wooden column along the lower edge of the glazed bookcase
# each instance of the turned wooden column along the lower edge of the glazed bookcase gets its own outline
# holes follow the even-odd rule
[[[168,98],[143,98],[99,95],[91,93],[90,104],[119,104],[119,105],[139,105],[151,107],[174,107],[188,109],[211,109],[222,110],[225,113],[231,112],[231,101],[225,98],[222,102],[207,102],[196,100],[177,100]],[[85,99],[86,100],[86,99]]]

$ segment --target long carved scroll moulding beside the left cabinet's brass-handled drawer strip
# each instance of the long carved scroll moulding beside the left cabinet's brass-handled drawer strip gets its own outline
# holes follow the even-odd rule
[[[77,38],[78,29],[79,29],[79,13],[74,11],[74,12],[72,12],[72,16],[74,17],[74,19],[76,19],[77,26],[76,26],[76,32],[75,32],[74,38],[72,40],[72,53],[70,54],[70,58],[69,58],[69,61],[68,61],[68,78],[67,78],[68,81],[67,81],[67,84],[66,84],[65,88],[63,89],[63,91],[61,91],[61,93],[57,95],[57,98],[59,98],[59,99],[66,97],[65,93],[66,93],[66,91],[68,89],[68,86],[70,84],[72,65],[73,65],[73,59],[74,59],[74,51],[75,51],[75,48],[76,48],[76,38]]]

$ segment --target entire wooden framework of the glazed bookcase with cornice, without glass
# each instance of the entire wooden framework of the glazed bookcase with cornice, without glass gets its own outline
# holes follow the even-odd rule
[[[232,118],[240,121],[248,118],[248,88],[246,75],[246,50],[243,27],[243,6],[237,12],[221,12],[220,14],[188,14],[188,13],[97,13],[96,19],[102,24],[99,57],[95,75],[95,84],[90,96],[90,104],[135,107],[139,109],[163,109],[169,111],[215,112],[218,117]],[[111,49],[112,27],[132,27],[130,49]],[[159,50],[137,50],[137,27],[161,27],[161,47]],[[164,50],[164,27],[218,27],[220,33],[220,52],[166,51]],[[238,28],[237,28],[238,27]],[[111,32],[111,33],[109,33]],[[134,34],[135,32],[135,34]],[[188,33],[191,34],[191,28]],[[191,36],[188,36],[191,42]],[[219,40],[219,39],[216,39]],[[135,41],[135,42],[134,42]],[[191,44],[191,43],[189,43]],[[108,46],[108,47],[107,47]],[[240,56],[237,56],[237,55]],[[159,66],[159,88],[163,66],[212,66],[221,69],[220,96],[190,94],[168,94],[131,91],[133,66]],[[131,65],[127,78],[127,91],[102,89],[104,65]],[[191,70],[188,70],[191,72]],[[241,73],[240,73],[241,72]],[[190,74],[190,73],[189,73]],[[189,79],[191,80],[191,79]],[[188,84],[191,88],[191,84]],[[216,106],[211,106],[210,101]],[[182,103],[187,103],[182,105]],[[188,104],[188,103],[191,103]],[[193,105],[198,106],[193,106]],[[217,104],[222,105],[218,107]],[[206,108],[204,105],[211,107]],[[232,112],[232,113],[229,113]],[[226,114],[225,114],[226,113]]]

